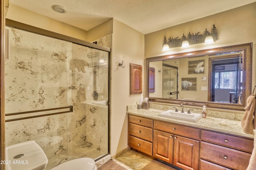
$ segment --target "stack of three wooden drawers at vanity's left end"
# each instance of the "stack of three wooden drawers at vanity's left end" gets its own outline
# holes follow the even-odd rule
[[[153,120],[129,115],[128,121],[128,145],[152,156]]]

